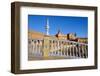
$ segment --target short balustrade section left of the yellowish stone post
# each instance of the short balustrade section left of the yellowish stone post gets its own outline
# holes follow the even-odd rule
[[[32,39],[28,42],[29,55],[43,56],[43,40]]]

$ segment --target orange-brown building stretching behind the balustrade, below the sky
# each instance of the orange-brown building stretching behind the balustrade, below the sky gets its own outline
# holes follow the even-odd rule
[[[31,39],[43,39],[46,35],[41,32],[36,32],[33,30],[29,30],[28,32],[28,37]],[[68,33],[66,35],[62,34],[60,30],[58,30],[58,33],[55,34],[54,36],[49,35],[49,38],[51,39],[59,39],[59,40],[70,40],[70,41],[75,41],[75,42],[80,42],[80,43],[88,43],[87,38],[81,38],[77,37],[75,33]]]

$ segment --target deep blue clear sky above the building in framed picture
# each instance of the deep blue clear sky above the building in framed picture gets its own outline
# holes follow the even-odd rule
[[[78,37],[88,37],[88,17],[28,15],[28,29],[45,33],[47,19],[50,35],[57,34],[60,29],[62,34],[76,33]]]

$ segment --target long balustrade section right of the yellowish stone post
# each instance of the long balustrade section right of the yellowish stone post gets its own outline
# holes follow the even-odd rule
[[[62,56],[67,58],[86,58],[88,46],[85,43],[78,43],[68,40],[50,40],[49,56]]]

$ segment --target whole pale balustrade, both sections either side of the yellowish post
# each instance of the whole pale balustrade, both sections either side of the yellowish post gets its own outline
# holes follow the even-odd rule
[[[29,55],[34,57],[43,57],[46,48],[43,39],[29,39],[28,42]],[[49,49],[48,57],[65,57],[65,58],[87,58],[88,45],[69,40],[53,40],[49,39],[47,44]]]

